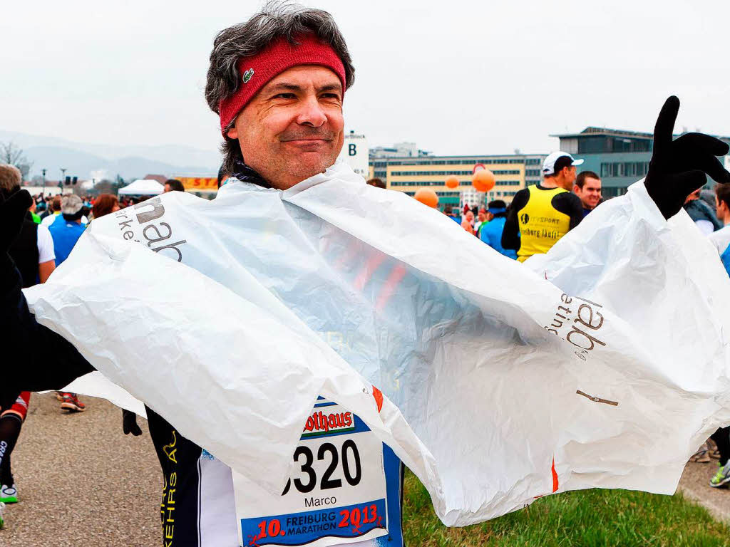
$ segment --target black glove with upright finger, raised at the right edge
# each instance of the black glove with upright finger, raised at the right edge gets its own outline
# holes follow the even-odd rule
[[[674,217],[687,196],[704,186],[708,174],[715,182],[730,182],[730,173],[715,156],[726,155],[730,147],[704,133],[686,133],[672,141],[680,100],[671,96],[661,107],[654,126],[654,153],[646,176],[646,190],[664,215]]]

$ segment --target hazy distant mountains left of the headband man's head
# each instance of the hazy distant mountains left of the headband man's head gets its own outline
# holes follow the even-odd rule
[[[8,141],[22,148],[26,158],[33,162],[28,178],[46,168],[48,180],[60,179],[61,167],[66,168],[66,176],[78,176],[80,180],[114,179],[118,174],[123,179],[145,174],[215,176],[221,161],[218,150],[176,144],[115,146],[0,130],[0,142]]]

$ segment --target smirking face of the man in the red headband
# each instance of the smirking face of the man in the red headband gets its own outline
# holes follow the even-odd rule
[[[342,83],[323,66],[294,66],[239,112],[234,128],[247,166],[286,190],[332,166],[342,149]]]

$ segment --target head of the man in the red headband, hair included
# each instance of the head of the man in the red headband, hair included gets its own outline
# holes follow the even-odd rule
[[[253,171],[285,190],[337,159],[342,100],[355,69],[337,26],[322,13],[261,13],[216,37],[205,91],[220,115],[227,174],[240,179]],[[261,31],[265,19],[272,29]],[[301,27],[290,28],[290,19]]]

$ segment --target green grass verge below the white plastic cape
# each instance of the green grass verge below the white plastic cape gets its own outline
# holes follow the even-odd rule
[[[730,527],[681,494],[584,490],[543,497],[528,508],[464,528],[447,528],[410,471],[404,485],[407,547],[711,547],[730,545]]]

